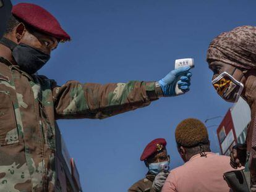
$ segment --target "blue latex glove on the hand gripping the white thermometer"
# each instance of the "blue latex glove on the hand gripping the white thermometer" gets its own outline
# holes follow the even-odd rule
[[[175,93],[175,86],[176,83],[179,86],[179,89],[182,90],[184,93],[189,91],[190,86],[190,77],[192,73],[189,72],[190,67],[181,67],[179,69],[174,69],[168,73],[164,78],[158,81],[159,85],[163,90],[164,96],[176,96]],[[180,80],[178,80],[178,78]]]

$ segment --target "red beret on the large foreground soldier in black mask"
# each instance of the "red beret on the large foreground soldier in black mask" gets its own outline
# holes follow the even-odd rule
[[[70,36],[61,28],[58,20],[40,6],[22,2],[12,7],[12,15],[38,31],[62,41],[70,40]]]

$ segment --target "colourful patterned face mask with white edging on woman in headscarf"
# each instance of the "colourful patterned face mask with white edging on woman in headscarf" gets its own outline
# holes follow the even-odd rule
[[[221,98],[229,102],[237,102],[244,89],[244,85],[227,72],[221,73],[211,83]]]

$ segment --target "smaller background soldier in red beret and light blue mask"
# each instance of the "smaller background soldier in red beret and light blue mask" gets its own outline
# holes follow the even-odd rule
[[[158,138],[147,144],[140,161],[148,167],[146,177],[132,185],[128,192],[160,192],[169,174],[170,158],[166,140]]]

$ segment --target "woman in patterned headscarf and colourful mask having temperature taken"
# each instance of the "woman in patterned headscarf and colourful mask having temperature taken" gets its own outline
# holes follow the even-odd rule
[[[249,164],[251,191],[256,191],[256,27],[242,26],[221,33],[207,51],[207,62],[213,71],[213,86],[226,101],[241,96],[249,104],[251,122],[245,144],[231,152],[233,168]]]

